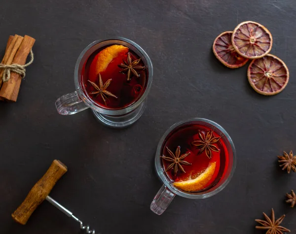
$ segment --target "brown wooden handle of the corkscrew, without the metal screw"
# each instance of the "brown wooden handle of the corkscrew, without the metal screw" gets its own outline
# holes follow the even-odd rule
[[[67,172],[67,167],[59,160],[54,160],[41,179],[34,185],[23,203],[13,212],[12,218],[26,224],[37,206],[45,200],[53,186]]]

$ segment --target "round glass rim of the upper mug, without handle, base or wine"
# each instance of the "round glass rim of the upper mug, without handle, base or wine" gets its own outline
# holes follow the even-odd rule
[[[81,74],[79,74],[79,67],[83,66],[83,64],[86,62],[86,59],[84,59],[84,55],[95,45],[102,43],[102,42],[108,42],[108,41],[123,41],[126,42],[130,45],[132,45],[133,47],[135,47],[142,56],[140,57],[144,57],[144,59],[147,62],[147,69],[148,69],[148,82],[147,82],[147,86],[146,89],[144,91],[144,93],[142,94],[142,96],[133,104],[122,108],[122,109],[105,109],[100,107],[98,104],[96,104],[96,102],[94,102],[93,100],[91,100],[89,97],[87,97],[82,89],[81,86],[81,82],[80,82],[80,76]],[[116,44],[116,43],[113,43]],[[108,45],[108,44],[107,44]],[[111,44],[109,44],[111,45]],[[103,46],[102,46],[103,47]],[[129,48],[130,49],[130,48]],[[137,51],[134,51],[136,54]],[[83,60],[84,59],[84,60]],[[80,76],[79,76],[80,75]],[[135,43],[134,41],[124,38],[124,37],[120,37],[120,36],[115,36],[112,38],[108,38],[108,39],[99,39],[99,40],[95,40],[92,43],[90,43],[88,46],[86,46],[82,52],[80,53],[80,55],[77,58],[76,64],[75,64],[75,68],[74,68],[74,85],[75,85],[75,89],[76,92],[79,96],[79,98],[84,102],[84,104],[88,107],[90,107],[91,109],[102,113],[102,114],[107,114],[107,115],[124,115],[127,114],[131,111],[133,111],[134,109],[136,109],[137,107],[139,107],[141,105],[141,103],[147,98],[149,90],[151,88],[152,85],[152,79],[153,79],[153,67],[152,67],[152,63],[151,60],[148,56],[148,54],[144,51],[144,49],[142,49],[141,46],[139,46],[137,43]]]

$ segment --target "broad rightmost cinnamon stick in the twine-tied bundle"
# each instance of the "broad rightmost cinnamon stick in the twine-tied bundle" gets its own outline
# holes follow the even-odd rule
[[[25,65],[27,57],[35,43],[35,39],[25,35],[19,49],[17,50],[12,64]],[[10,79],[4,82],[0,90],[0,97],[8,101],[16,101],[22,78],[18,73],[11,72]]]

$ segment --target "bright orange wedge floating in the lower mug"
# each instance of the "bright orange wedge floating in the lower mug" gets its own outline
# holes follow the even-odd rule
[[[216,162],[210,163],[209,167],[207,167],[207,169],[195,179],[175,182],[174,186],[187,192],[201,190],[213,177],[215,173],[215,168]]]

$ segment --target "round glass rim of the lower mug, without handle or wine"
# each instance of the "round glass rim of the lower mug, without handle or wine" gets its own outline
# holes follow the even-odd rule
[[[215,128],[217,128],[226,137],[226,139],[228,140],[229,145],[231,147],[231,150],[232,150],[233,162],[232,162],[231,171],[230,171],[228,177],[225,179],[225,181],[219,187],[215,188],[213,191],[210,191],[210,192],[204,191],[204,194],[187,193],[187,192],[183,192],[183,191],[177,189],[176,187],[174,187],[172,185],[172,183],[169,181],[169,179],[167,178],[167,176],[165,175],[165,172],[163,171],[162,164],[161,164],[161,158],[160,158],[161,148],[162,148],[162,145],[163,145],[164,140],[166,139],[166,137],[170,133],[172,133],[175,129],[180,127],[181,125],[186,124],[186,123],[190,123],[190,122],[202,122],[202,123],[206,123],[206,124],[210,124],[210,125],[214,126]],[[220,126],[219,124],[215,123],[214,121],[211,121],[211,120],[208,120],[208,119],[190,118],[190,119],[183,120],[183,121],[175,123],[162,135],[162,137],[160,138],[159,143],[157,145],[154,163],[155,163],[155,169],[156,169],[158,177],[161,179],[163,184],[173,194],[179,195],[181,197],[188,198],[188,199],[204,199],[204,198],[212,197],[215,194],[219,193],[230,182],[230,180],[231,180],[231,178],[232,178],[232,176],[234,174],[235,167],[236,167],[236,151],[235,151],[235,147],[234,147],[232,139],[230,138],[229,134],[222,128],[222,126]]]

